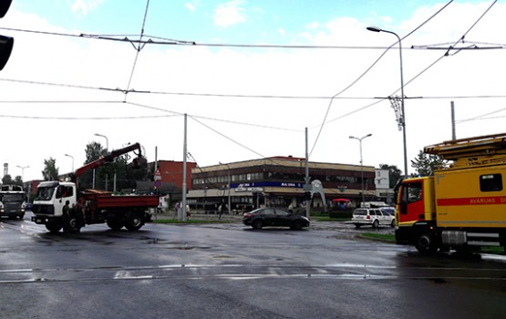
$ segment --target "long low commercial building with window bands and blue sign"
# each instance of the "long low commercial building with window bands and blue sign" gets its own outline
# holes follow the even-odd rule
[[[365,201],[377,201],[374,167],[310,161],[308,168],[310,179],[322,183],[327,207],[336,207],[333,200],[338,199],[347,199],[352,206],[358,206],[362,190]],[[215,211],[221,204],[237,211],[263,205],[301,206],[305,204],[304,185],[305,159],[245,160],[191,170],[187,202],[206,211]],[[323,198],[315,193],[311,205],[323,209]]]

